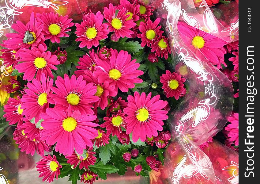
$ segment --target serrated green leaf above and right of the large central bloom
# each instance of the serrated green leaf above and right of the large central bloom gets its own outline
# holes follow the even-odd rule
[[[143,49],[138,41],[126,42],[126,38],[120,38],[118,42],[111,42],[107,45],[118,51],[124,50],[130,53],[139,52],[140,49]]]

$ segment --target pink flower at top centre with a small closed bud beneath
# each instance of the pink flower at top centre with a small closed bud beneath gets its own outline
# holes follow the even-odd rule
[[[109,7],[104,7],[104,18],[107,20],[108,31],[115,32],[115,35],[120,38],[131,38],[134,32],[130,30],[133,28],[136,23],[132,19],[126,20],[129,18],[129,15],[126,15],[126,9],[123,8],[115,13],[116,8],[110,3]]]

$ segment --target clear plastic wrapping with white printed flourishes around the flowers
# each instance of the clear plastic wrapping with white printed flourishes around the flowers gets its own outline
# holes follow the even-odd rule
[[[53,11],[60,15],[68,15],[74,21],[80,21],[82,12],[89,7],[95,12],[102,10],[110,2],[108,0],[1,0],[0,41],[6,39],[4,36],[6,33],[13,32],[11,29],[13,22],[17,20],[27,22],[32,11],[39,13]],[[117,1],[114,2],[116,4]],[[144,2],[156,9],[157,17],[162,17],[161,24],[168,33],[174,59],[172,68],[187,79],[189,89],[183,100],[168,114],[173,141],[166,150],[165,166],[167,167],[160,169],[159,173],[151,173],[149,180],[142,178],[140,183],[237,184],[238,153],[236,151],[217,141],[210,143],[209,148],[204,152],[198,147],[219,132],[230,117],[234,94],[232,84],[206,58],[198,59],[198,54],[202,53],[198,49],[190,49],[186,46],[177,29],[178,21],[184,21],[226,42],[235,41],[238,39],[237,1],[217,7],[209,7],[205,0],[202,0],[199,5],[194,4],[193,0],[145,0]],[[37,160],[32,162],[35,161]],[[0,173],[2,174],[3,171]],[[30,181],[34,179],[33,176]],[[64,183],[61,180],[57,182]]]

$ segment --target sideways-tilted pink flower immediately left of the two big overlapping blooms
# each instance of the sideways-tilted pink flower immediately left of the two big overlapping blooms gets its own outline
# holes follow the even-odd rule
[[[53,85],[53,79],[46,79],[46,76],[42,74],[41,80],[32,79],[32,83],[28,82],[28,89],[24,89],[24,95],[21,99],[21,108],[24,109],[24,116],[31,120],[35,117],[35,123],[41,119],[41,114],[45,113],[45,110],[49,107],[50,94],[52,94],[51,86]]]

